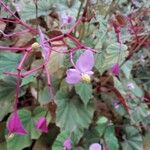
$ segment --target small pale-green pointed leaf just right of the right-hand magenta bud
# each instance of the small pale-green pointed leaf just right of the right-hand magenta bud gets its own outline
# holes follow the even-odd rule
[[[130,78],[130,74],[131,74],[131,70],[133,67],[133,62],[131,60],[127,61],[122,67],[122,71],[125,74],[126,78],[129,79]]]

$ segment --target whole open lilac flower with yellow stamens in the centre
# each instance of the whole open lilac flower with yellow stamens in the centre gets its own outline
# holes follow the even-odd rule
[[[66,81],[69,84],[79,83],[81,80],[90,81],[90,75],[93,74],[92,68],[94,66],[93,52],[86,50],[75,64],[75,69],[67,70]]]

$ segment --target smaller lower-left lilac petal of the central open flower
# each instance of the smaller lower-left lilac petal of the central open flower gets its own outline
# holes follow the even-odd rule
[[[69,69],[67,70],[66,82],[69,84],[76,84],[80,82],[81,74],[77,69]]]

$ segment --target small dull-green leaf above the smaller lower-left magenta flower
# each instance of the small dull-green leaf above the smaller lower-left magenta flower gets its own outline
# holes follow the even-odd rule
[[[40,90],[39,92],[39,103],[41,105],[45,105],[47,103],[49,103],[51,100],[50,98],[50,93],[48,91],[48,87],[44,87],[44,89]]]

